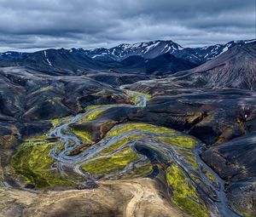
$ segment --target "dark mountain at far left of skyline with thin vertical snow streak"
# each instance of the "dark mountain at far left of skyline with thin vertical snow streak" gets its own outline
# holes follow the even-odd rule
[[[35,53],[26,53],[0,57],[0,66],[26,66],[36,70],[65,71],[91,71],[108,68],[98,60],[92,60],[82,50],[48,49]]]

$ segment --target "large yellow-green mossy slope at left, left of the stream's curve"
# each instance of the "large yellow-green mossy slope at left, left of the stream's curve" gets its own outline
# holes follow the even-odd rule
[[[11,165],[15,174],[25,178],[26,183],[37,187],[46,186],[73,186],[73,182],[65,179],[55,168],[51,168],[54,159],[49,152],[55,143],[42,140],[34,144],[32,140],[24,142],[18,147]]]

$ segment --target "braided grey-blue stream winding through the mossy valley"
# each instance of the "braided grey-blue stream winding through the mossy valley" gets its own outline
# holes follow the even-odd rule
[[[125,89],[125,85],[121,86],[120,89]],[[133,107],[138,107],[138,106],[144,107],[147,105],[148,99],[143,94],[139,94],[139,93],[133,92],[131,90],[125,90],[125,91],[127,91],[127,94],[136,95],[137,98],[139,99],[137,102],[137,105],[135,105]],[[118,107],[118,106],[132,106],[132,105],[116,105],[115,107]],[[95,145],[90,146],[85,151],[80,152],[78,155],[68,156],[67,155],[68,151],[72,151],[74,148],[82,145],[82,141],[79,140],[79,138],[75,134],[73,134],[72,132],[69,131],[68,126],[72,123],[78,122],[82,117],[89,115],[90,112],[94,112],[94,111],[102,110],[102,109],[108,109],[110,107],[113,107],[113,106],[101,106],[101,107],[97,107],[96,109],[86,111],[83,114],[80,113],[80,114],[76,115],[75,117],[72,117],[70,120],[68,120],[67,123],[62,123],[60,126],[55,127],[49,133],[49,138],[57,137],[57,138],[59,138],[59,141],[56,143],[55,147],[52,149],[49,156],[54,157],[58,162],[66,164],[70,168],[73,168],[73,171],[75,173],[84,176],[84,178],[86,179],[86,178],[88,178],[88,175],[84,174],[84,172],[81,170],[81,168],[80,168],[81,165],[85,161],[90,160],[93,157],[95,157],[96,154],[99,153],[100,151],[102,151],[103,148],[113,145],[118,140],[121,140],[122,138],[129,136],[130,134],[140,134],[140,135],[144,134],[144,135],[146,135],[146,137],[150,136],[150,134],[147,134],[145,132],[141,132],[139,130],[133,130],[133,131],[125,132],[124,134],[115,135],[111,138],[105,137],[102,140],[100,140],[99,142],[97,142]],[[57,147],[59,146],[60,143],[64,143],[64,150],[58,153]],[[72,146],[70,146],[71,144],[72,144]],[[134,148],[136,149],[136,146],[138,146],[138,145],[137,145],[136,141],[133,141],[133,142],[131,142],[131,144],[129,146],[131,146],[131,148],[133,148],[133,149]],[[177,163],[177,165],[180,168],[183,168],[183,171],[185,171],[187,174],[189,174],[190,168],[188,168],[188,163],[186,163],[184,161],[183,157],[181,157],[181,155],[179,153],[177,153],[177,150],[172,148],[172,146],[168,146],[168,148],[166,148],[165,144],[156,143],[155,140],[148,139],[147,145],[145,145],[145,149],[147,149],[148,147],[150,147],[150,149],[156,151],[157,154],[159,154],[159,156],[164,156],[167,159],[171,158],[175,163]],[[212,203],[212,207],[213,207],[212,208],[213,209],[212,216],[224,216],[224,217],[228,217],[228,216],[239,217],[239,216],[241,216],[241,215],[237,214],[235,211],[233,211],[227,203],[227,199],[226,199],[225,193],[224,193],[224,180],[222,180],[218,176],[218,174],[216,174],[212,170],[212,168],[209,168],[207,166],[207,164],[201,160],[201,157],[200,157],[200,154],[202,151],[201,147],[202,147],[201,143],[198,142],[198,144],[194,150],[195,159],[200,168],[199,171],[196,171],[195,173],[198,174],[200,180],[207,187],[212,189],[213,195],[215,196],[214,198],[209,199],[210,203]],[[145,158],[146,157],[143,156],[143,159],[145,159]],[[218,181],[218,185],[212,184],[212,181],[209,180],[207,178],[206,174],[202,171],[202,167],[207,169],[207,171],[215,177],[215,179]]]

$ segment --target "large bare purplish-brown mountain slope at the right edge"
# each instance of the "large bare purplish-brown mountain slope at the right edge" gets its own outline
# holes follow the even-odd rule
[[[175,75],[176,80],[211,88],[256,89],[256,43],[235,46],[217,58]]]

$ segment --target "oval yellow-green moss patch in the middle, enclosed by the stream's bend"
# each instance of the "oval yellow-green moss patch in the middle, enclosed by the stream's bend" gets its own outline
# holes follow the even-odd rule
[[[109,174],[125,168],[128,163],[139,159],[139,155],[130,147],[118,151],[111,157],[98,157],[82,166],[90,174]]]

